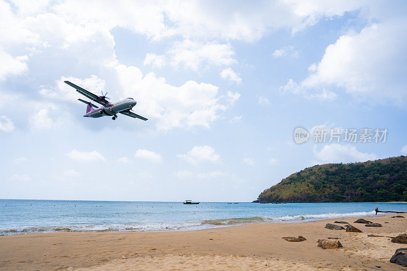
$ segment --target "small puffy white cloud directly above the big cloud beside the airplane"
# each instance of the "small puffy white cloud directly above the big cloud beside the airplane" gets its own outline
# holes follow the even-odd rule
[[[167,54],[170,55],[171,64],[175,67],[184,66],[187,69],[198,71],[209,66],[230,66],[238,63],[232,56],[235,52],[230,44],[220,44],[216,41],[201,43],[184,40],[176,42]]]

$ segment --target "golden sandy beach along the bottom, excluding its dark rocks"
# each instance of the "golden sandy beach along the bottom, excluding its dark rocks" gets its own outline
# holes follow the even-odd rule
[[[365,217],[380,228],[353,223],[358,218],[351,217],[195,231],[7,235],[0,236],[0,270],[407,270],[389,262],[406,244],[367,236],[405,233],[407,216],[391,216]],[[363,232],[324,228],[336,220]],[[298,235],[306,240],[281,238]],[[328,237],[339,238],[343,248],[318,248],[317,240]]]

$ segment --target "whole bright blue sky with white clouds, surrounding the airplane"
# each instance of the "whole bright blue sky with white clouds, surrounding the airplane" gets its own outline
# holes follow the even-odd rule
[[[0,0],[0,198],[252,201],[306,167],[407,155],[406,15],[403,1]],[[83,117],[64,80],[149,120]]]

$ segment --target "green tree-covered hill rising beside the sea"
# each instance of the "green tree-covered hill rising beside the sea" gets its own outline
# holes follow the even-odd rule
[[[316,165],[263,191],[260,202],[407,201],[407,157]]]

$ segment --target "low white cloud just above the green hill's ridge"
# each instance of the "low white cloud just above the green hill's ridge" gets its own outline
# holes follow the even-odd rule
[[[314,147],[314,156],[324,163],[350,163],[376,160],[377,155],[373,153],[362,153],[352,145],[329,144],[321,150]]]

